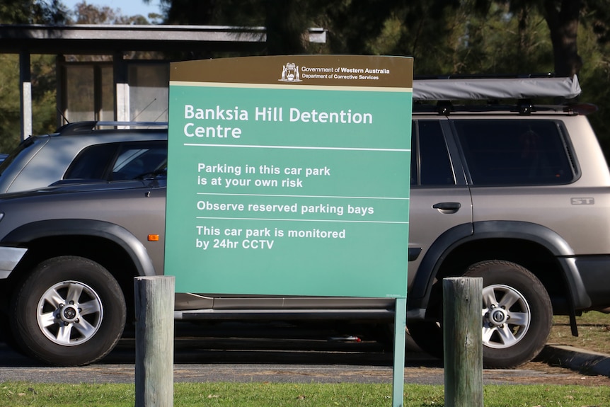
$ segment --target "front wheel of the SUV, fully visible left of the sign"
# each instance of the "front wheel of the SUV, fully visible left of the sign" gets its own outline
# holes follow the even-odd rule
[[[114,348],[125,297],[98,263],[62,256],[40,263],[16,290],[11,328],[21,348],[50,365],[88,365]]]

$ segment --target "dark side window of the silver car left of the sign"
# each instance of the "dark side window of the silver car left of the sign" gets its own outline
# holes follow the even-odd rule
[[[76,156],[64,180],[132,180],[155,173],[166,161],[166,142],[98,144]]]

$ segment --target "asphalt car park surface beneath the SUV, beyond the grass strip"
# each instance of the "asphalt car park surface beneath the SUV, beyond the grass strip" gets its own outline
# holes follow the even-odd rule
[[[205,335],[205,336],[202,336]],[[134,339],[122,339],[103,361],[47,367],[0,343],[0,382],[133,383]],[[393,357],[357,333],[286,324],[176,325],[175,382],[389,383]],[[408,346],[405,383],[443,384],[442,362]],[[602,384],[610,378],[531,362],[519,369],[485,369],[484,384]]]

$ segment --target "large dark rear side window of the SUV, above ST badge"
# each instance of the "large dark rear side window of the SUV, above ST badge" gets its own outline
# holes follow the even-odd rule
[[[553,185],[575,178],[556,120],[452,120],[473,185]]]

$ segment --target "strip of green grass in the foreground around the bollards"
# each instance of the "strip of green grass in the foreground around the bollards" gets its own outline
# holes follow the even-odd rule
[[[391,384],[176,383],[174,406],[378,407],[392,405]],[[0,384],[0,407],[133,406],[132,384]],[[593,407],[609,386],[487,385],[485,407]],[[442,407],[442,386],[405,385],[405,407]]]

